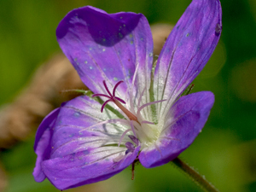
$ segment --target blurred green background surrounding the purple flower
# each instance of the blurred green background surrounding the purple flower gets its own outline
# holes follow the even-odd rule
[[[175,24],[189,0],[0,0],[0,104],[12,102],[37,67],[61,52],[55,28],[68,11],[92,5],[108,13],[143,13],[150,24]],[[215,104],[207,125],[181,159],[205,175],[220,191],[256,191],[256,1],[222,0],[223,32],[195,89],[211,90]],[[5,192],[58,191],[36,183],[34,135],[2,150],[8,177]],[[167,164],[131,167],[101,183],[68,191],[201,191]]]

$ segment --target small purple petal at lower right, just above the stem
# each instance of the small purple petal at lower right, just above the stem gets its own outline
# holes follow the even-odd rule
[[[207,122],[213,102],[209,91],[182,96],[167,113],[159,139],[139,154],[143,166],[161,166],[188,148]]]

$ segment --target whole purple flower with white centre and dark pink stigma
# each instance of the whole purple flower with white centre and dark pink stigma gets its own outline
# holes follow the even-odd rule
[[[79,96],[38,128],[33,175],[58,189],[102,181],[134,160],[161,166],[188,148],[214,102],[212,92],[181,96],[207,63],[222,29],[218,0],[194,0],[153,65],[142,14],[107,14],[90,6],[61,20],[56,36],[84,84]]]

